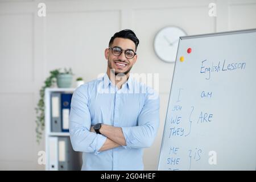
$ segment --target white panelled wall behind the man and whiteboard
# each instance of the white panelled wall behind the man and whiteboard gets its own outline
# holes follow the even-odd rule
[[[39,2],[46,3],[46,18],[37,15]],[[208,16],[210,2],[216,18]],[[159,73],[160,129],[144,150],[145,169],[156,169],[174,70],[154,53],[156,32],[168,25],[188,35],[256,28],[255,10],[256,0],[0,0],[0,169],[44,169],[37,163],[44,142],[38,146],[35,135],[40,86],[56,68],[71,67],[86,81],[105,72],[104,49],[123,28],[141,42],[132,72]]]

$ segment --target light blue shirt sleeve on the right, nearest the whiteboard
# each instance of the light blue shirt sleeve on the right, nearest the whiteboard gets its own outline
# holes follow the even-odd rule
[[[159,127],[159,96],[153,89],[146,95],[146,101],[138,116],[138,126],[122,127],[126,140],[125,148],[150,147]]]

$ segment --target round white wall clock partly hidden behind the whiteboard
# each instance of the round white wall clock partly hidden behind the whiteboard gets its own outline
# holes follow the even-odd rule
[[[160,30],[154,40],[156,55],[168,63],[175,62],[180,36],[185,35],[185,31],[179,27],[165,27]]]

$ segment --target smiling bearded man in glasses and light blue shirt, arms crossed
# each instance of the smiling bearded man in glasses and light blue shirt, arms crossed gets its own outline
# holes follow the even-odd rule
[[[130,77],[138,44],[131,30],[115,33],[105,76],[73,93],[69,131],[73,149],[83,152],[82,170],[143,170],[143,148],[159,127],[159,98]]]

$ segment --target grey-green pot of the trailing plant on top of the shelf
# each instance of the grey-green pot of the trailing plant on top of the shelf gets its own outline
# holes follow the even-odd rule
[[[57,85],[59,88],[70,88],[72,85],[73,73],[72,69],[64,69],[64,72],[60,72],[57,75]]]

